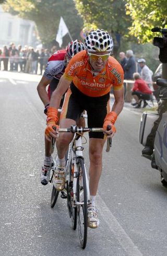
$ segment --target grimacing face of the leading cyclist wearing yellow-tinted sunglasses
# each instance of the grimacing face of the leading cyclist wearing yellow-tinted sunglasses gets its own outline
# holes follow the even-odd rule
[[[89,63],[93,68],[94,72],[101,72],[104,68],[108,58],[110,56],[109,52],[89,52]]]

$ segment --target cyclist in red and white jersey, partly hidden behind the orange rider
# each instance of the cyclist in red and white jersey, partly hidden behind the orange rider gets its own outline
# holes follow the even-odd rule
[[[45,72],[41,78],[40,83],[37,86],[38,94],[45,106],[44,113],[47,114],[47,109],[49,108],[49,101],[52,92],[58,85],[59,79],[65,72],[65,68],[71,59],[77,52],[85,50],[85,45],[79,40],[71,41],[68,43],[66,50],[56,51],[47,62]],[[46,87],[49,85],[48,90]],[[59,108],[62,107],[64,101],[64,95],[61,99]],[[82,119],[80,123],[84,125]],[[45,158],[44,164],[42,166],[41,172],[41,183],[47,185],[50,179],[50,170],[52,167],[52,155],[51,155],[51,142],[45,139]]]

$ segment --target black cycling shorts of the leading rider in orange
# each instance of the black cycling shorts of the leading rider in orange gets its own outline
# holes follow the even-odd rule
[[[104,118],[110,111],[110,92],[101,97],[89,97],[82,94],[72,82],[65,96],[61,119],[68,118],[77,122],[84,110],[88,115],[88,127],[103,127]],[[89,137],[104,138],[104,134],[90,132]]]

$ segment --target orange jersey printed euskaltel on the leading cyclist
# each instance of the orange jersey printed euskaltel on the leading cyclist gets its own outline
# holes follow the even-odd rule
[[[124,72],[122,66],[113,57],[109,56],[105,67],[97,76],[93,76],[88,62],[87,52],[81,51],[70,60],[63,75],[85,95],[100,97],[123,87]]]

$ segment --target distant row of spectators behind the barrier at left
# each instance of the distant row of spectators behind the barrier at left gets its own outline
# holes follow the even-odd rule
[[[55,51],[56,46],[49,51],[34,50],[27,45],[22,48],[20,44],[16,47],[14,43],[10,43],[9,47],[4,45],[3,49],[0,49],[0,70],[42,75],[47,60]]]

